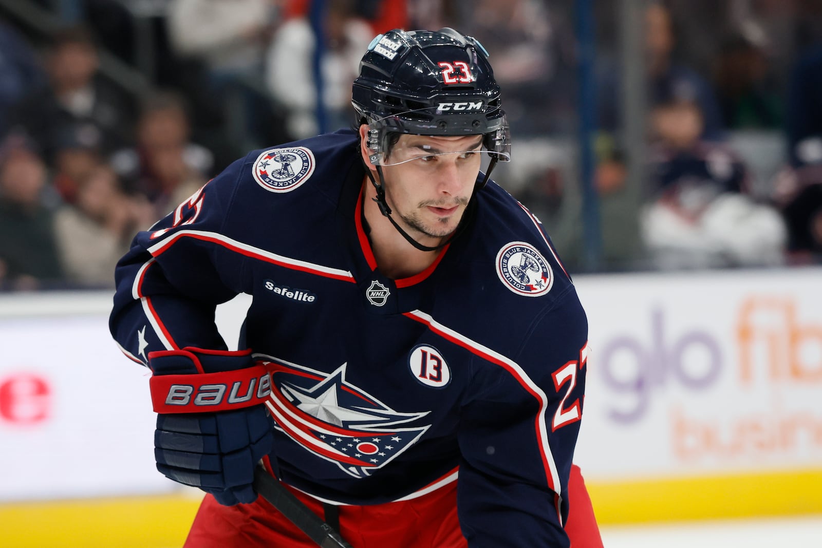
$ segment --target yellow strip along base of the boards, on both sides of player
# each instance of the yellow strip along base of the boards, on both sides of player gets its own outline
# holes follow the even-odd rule
[[[586,484],[600,525],[822,513],[822,469]],[[176,548],[199,505],[187,495],[0,504],[0,544]]]

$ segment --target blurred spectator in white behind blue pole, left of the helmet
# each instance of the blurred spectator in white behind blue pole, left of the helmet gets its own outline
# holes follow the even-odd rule
[[[323,15],[322,104],[326,129],[334,131],[353,122],[351,81],[374,34],[354,11],[352,0],[329,0]],[[279,27],[268,52],[266,84],[286,109],[289,134],[294,138],[319,131],[313,60],[316,47],[311,22],[307,17],[295,17]]]

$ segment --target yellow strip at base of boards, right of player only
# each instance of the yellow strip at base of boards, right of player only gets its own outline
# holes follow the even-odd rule
[[[586,485],[603,525],[822,513],[822,469]]]

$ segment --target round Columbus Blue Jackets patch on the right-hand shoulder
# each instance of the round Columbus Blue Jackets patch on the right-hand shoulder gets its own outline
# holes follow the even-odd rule
[[[551,290],[551,265],[531,244],[510,242],[496,254],[496,275],[518,295],[539,297]]]

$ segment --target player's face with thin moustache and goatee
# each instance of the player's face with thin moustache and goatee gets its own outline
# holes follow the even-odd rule
[[[410,160],[382,171],[386,201],[405,228],[436,238],[455,231],[477,180],[482,144],[477,135],[399,137],[393,150]]]

